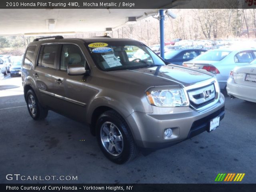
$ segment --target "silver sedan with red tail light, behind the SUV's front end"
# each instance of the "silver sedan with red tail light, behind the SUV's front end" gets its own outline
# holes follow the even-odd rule
[[[230,71],[235,66],[243,66],[256,58],[256,49],[222,48],[205,52],[204,54],[184,62],[183,66],[206,70],[214,74],[220,84],[220,89],[225,89]]]

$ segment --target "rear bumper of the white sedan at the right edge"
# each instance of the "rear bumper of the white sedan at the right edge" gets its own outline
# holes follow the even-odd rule
[[[256,102],[256,87],[236,84],[231,78],[228,79],[227,92],[230,96],[250,102]]]

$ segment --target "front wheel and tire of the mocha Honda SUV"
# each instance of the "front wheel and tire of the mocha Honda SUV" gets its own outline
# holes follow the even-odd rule
[[[114,110],[100,115],[96,123],[96,136],[103,154],[116,164],[129,162],[138,154],[127,123]]]

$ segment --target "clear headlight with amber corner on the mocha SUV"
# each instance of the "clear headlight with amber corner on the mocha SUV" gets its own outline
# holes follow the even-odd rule
[[[158,107],[188,106],[183,89],[147,91],[146,96],[150,104]]]

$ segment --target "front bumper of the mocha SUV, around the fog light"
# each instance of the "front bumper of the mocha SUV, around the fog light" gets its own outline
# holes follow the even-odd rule
[[[210,120],[224,118],[225,98],[220,94],[219,101],[212,107],[196,111],[190,107],[157,108],[152,114],[134,112],[126,118],[132,129],[134,140],[141,148],[164,148],[196,136],[210,126]],[[168,111],[169,110],[169,111]],[[170,139],[164,138],[164,130],[172,128]]]

